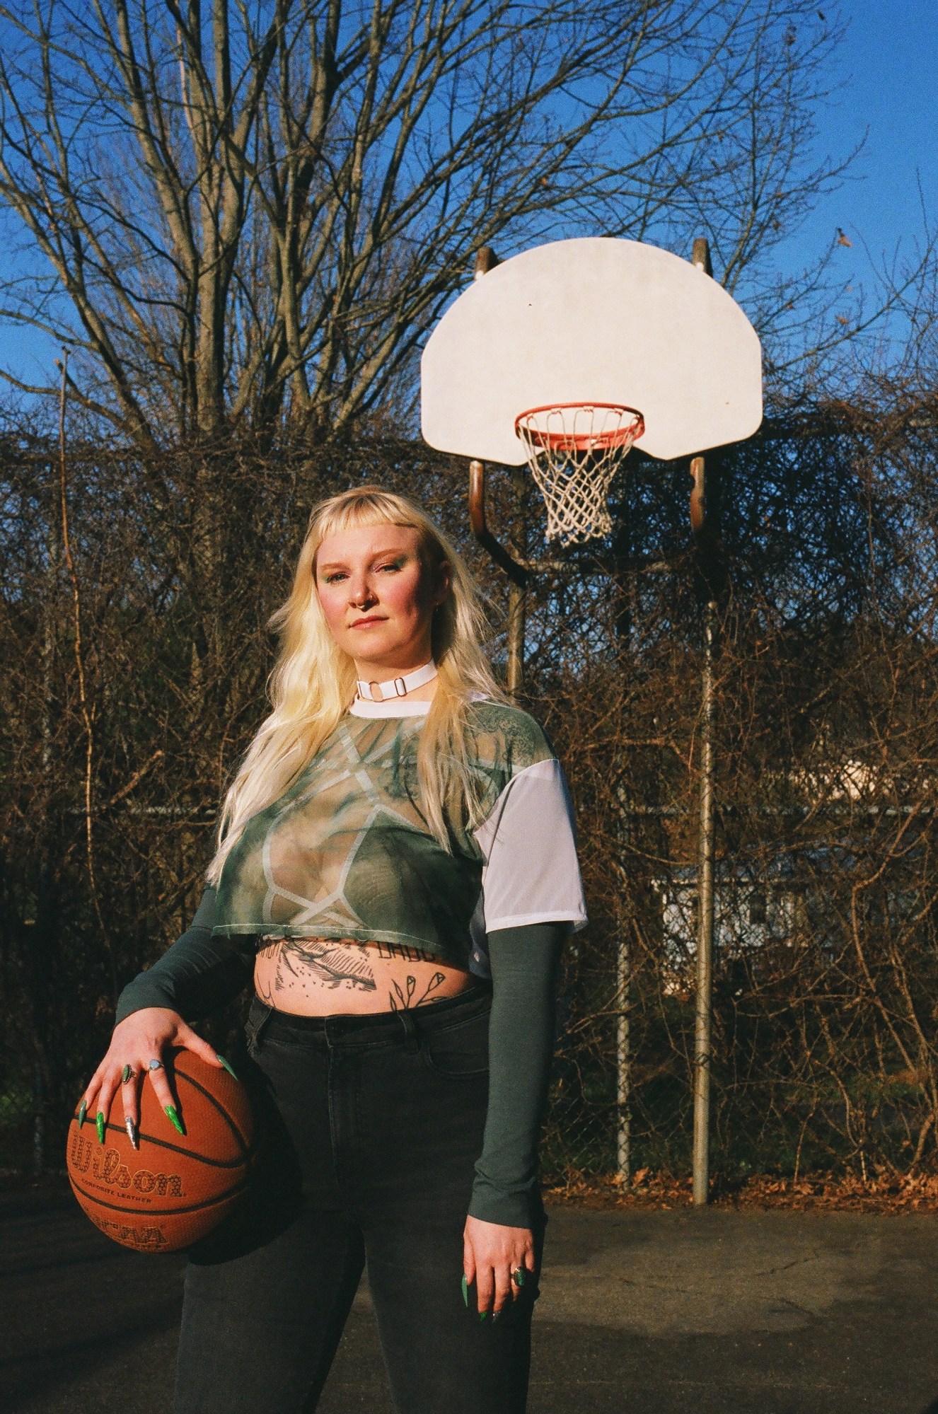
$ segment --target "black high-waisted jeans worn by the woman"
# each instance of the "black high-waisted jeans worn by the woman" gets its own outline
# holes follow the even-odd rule
[[[535,1280],[498,1322],[460,1290],[490,1007],[481,987],[365,1017],[255,1001],[263,1164],[190,1253],[177,1414],[314,1410],[365,1264],[399,1414],[522,1414],[543,1210]]]

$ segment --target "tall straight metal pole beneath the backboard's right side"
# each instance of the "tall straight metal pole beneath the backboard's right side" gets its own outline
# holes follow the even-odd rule
[[[693,1205],[703,1208],[710,1186],[710,1017],[713,995],[713,660],[717,607],[703,611],[703,703],[700,713],[700,841],[697,860],[697,997],[693,1053]]]

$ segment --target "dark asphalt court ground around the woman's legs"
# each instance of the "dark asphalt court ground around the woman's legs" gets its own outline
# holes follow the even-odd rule
[[[0,1410],[168,1414],[183,1260],[0,1195]],[[938,1219],[550,1209],[531,1414],[938,1414]],[[321,1414],[392,1414],[366,1288]]]

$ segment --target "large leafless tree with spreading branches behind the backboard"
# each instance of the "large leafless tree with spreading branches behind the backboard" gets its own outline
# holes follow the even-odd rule
[[[482,243],[683,250],[703,221],[739,286],[839,175],[809,153],[838,38],[813,0],[20,0],[0,21],[0,197],[33,262],[0,317],[69,346],[74,395],[139,445],[406,406]]]

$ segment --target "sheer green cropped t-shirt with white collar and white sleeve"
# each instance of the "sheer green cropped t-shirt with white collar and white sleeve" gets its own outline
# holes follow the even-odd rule
[[[218,882],[214,935],[403,943],[487,977],[487,933],[586,925],[570,795],[543,728],[502,703],[470,704],[478,823],[447,809],[447,853],[417,793],[429,707],[355,701],[248,820]]]

